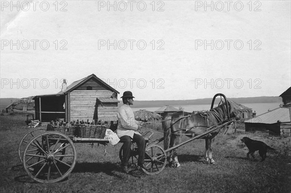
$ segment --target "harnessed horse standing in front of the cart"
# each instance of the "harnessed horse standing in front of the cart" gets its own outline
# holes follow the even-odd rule
[[[233,109],[233,105],[228,102],[230,118],[237,117],[239,112]],[[211,109],[210,111],[200,113],[186,113],[176,112],[171,116],[165,117],[164,124],[164,149],[168,149],[174,145],[181,143],[183,135],[187,137],[194,137],[208,131],[208,128],[219,124],[227,119],[226,104],[222,102],[221,105]],[[212,158],[212,143],[220,129],[217,129],[201,139],[205,139],[205,161],[207,163],[215,164]],[[179,167],[177,157],[177,149],[170,152],[168,157],[169,165]]]

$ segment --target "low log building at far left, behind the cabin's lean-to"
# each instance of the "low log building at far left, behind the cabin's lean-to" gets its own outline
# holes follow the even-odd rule
[[[20,98],[6,107],[6,113],[34,114],[34,96]]]

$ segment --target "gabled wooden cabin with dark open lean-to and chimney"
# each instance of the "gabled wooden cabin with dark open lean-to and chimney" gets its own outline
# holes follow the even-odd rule
[[[35,101],[35,116],[41,122],[60,119],[71,121],[116,121],[119,94],[95,74],[74,81],[69,86],[62,84],[57,94],[39,95]]]

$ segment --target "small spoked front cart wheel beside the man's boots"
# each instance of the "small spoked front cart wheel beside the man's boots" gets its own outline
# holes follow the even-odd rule
[[[155,175],[162,172],[166,166],[166,153],[160,145],[149,145],[146,147],[145,166],[142,170],[148,175]]]

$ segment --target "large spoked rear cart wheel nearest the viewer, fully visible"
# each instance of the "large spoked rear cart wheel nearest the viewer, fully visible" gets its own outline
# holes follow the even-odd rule
[[[38,182],[58,182],[69,176],[76,158],[76,148],[70,138],[57,131],[45,131],[28,143],[23,153],[23,167]]]

